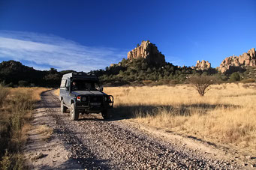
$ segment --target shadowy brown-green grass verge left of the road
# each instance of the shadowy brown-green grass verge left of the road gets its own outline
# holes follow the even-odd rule
[[[20,153],[26,142],[34,103],[47,88],[0,87],[0,169],[24,169]]]

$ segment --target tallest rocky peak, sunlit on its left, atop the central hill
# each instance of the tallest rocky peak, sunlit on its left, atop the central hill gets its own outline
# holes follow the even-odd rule
[[[149,61],[152,64],[164,65],[165,59],[164,55],[158,51],[158,47],[155,44],[150,43],[149,40],[143,40],[140,46],[137,46],[135,49],[132,49],[131,52],[128,52],[127,58],[146,58],[146,61]]]

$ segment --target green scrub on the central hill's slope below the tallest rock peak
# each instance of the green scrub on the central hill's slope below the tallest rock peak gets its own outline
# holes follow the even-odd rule
[[[191,67],[179,67],[171,63],[157,66],[146,62],[145,58],[133,60],[122,59],[119,64],[106,67],[106,70],[95,70],[104,85],[164,85],[183,83],[194,74],[212,75],[215,69],[194,70]],[[221,76],[220,76],[221,77]]]

